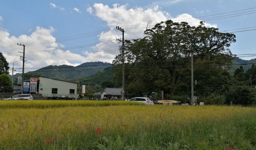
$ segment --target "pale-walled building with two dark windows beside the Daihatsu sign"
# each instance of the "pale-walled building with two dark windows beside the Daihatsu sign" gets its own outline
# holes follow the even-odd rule
[[[46,77],[37,77],[38,82],[38,93],[42,94],[43,97],[76,97],[77,83],[51,79]]]

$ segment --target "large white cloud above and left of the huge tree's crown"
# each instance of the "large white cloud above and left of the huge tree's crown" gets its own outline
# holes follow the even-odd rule
[[[162,1],[162,2],[167,2],[167,1]],[[179,2],[177,1],[171,1],[172,3]],[[92,8],[93,7],[93,8]],[[166,11],[162,11],[158,5],[154,7],[149,7],[149,8],[141,8],[141,7],[135,7],[135,8],[130,8],[128,9],[128,5],[119,5],[119,4],[113,4],[113,7],[109,7],[108,5],[103,5],[103,4],[97,4],[95,3],[92,7],[87,8],[87,11],[89,13],[93,13],[96,17],[99,19],[106,21],[107,25],[109,27],[116,27],[120,26],[124,28],[125,30],[125,38],[137,38],[137,37],[144,37],[144,31],[146,30],[145,25],[140,25],[140,24],[147,24],[148,20],[152,20],[153,23],[155,22],[161,22],[161,21],[166,21],[168,19],[172,19],[173,21],[176,20],[176,22],[181,22],[181,21],[190,21],[189,25],[194,25],[197,26],[199,25],[200,21],[199,19],[191,19],[193,18],[189,14],[181,14],[176,17],[171,17],[170,14]],[[122,25],[133,25],[133,26],[138,26],[140,25],[140,28],[133,28],[129,29],[127,26],[122,26]],[[217,27],[216,24],[209,24],[205,23],[207,27]],[[133,27],[132,26],[132,27]],[[151,25],[151,27],[153,24]],[[106,41],[106,40],[111,40],[111,39],[116,39],[116,38],[121,38],[121,32],[116,31],[116,32],[103,32],[104,34],[99,35],[99,41]],[[97,53],[94,55],[94,57],[86,57],[89,60],[96,60],[97,58],[100,59],[100,61],[106,61],[106,62],[111,62],[115,55],[119,54],[119,51],[112,50],[112,51],[103,51],[101,49],[103,48],[111,48],[117,46],[116,43],[110,43],[106,45],[96,45],[93,47],[93,50],[97,51]],[[101,52],[100,54],[98,52]],[[90,54],[88,52],[85,52],[84,54]],[[102,55],[104,54],[104,55]],[[104,57],[106,56],[106,57]],[[99,60],[98,59],[98,60]]]

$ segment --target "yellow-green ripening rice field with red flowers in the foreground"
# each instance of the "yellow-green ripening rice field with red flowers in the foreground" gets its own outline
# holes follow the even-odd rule
[[[238,106],[1,101],[0,149],[256,149],[255,116]]]

